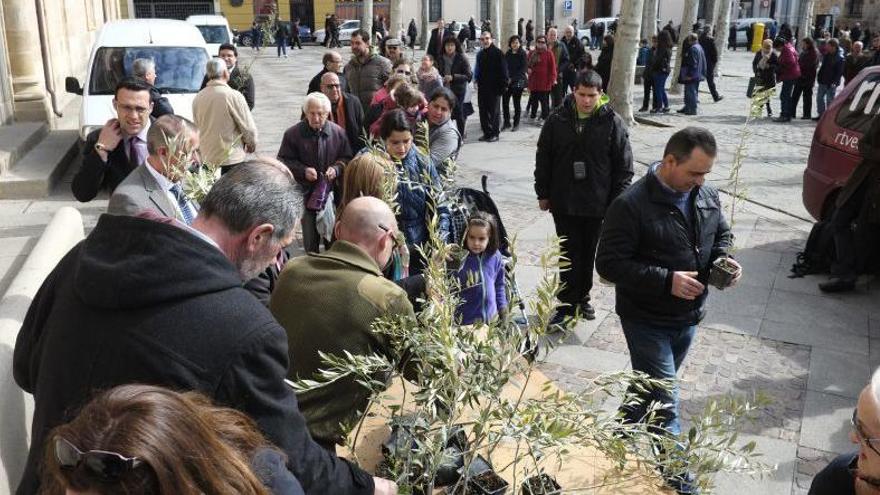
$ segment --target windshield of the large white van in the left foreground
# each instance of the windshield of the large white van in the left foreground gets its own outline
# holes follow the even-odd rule
[[[204,48],[177,46],[99,48],[89,78],[89,94],[112,95],[116,84],[131,75],[131,64],[139,58],[153,59],[156,87],[163,93],[198,93],[208,52]]]

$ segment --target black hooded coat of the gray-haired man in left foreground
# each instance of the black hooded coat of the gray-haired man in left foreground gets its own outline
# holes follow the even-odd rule
[[[19,494],[36,492],[46,434],[99,390],[195,390],[251,416],[308,493],[373,493],[372,477],[314,443],[287,376],[287,335],[216,247],[177,227],[103,215],[34,297],[13,376],[34,394]]]

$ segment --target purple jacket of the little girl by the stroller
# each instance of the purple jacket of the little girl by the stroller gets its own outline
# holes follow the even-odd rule
[[[468,277],[473,273],[476,284],[468,287]],[[463,325],[477,321],[488,322],[507,307],[504,289],[504,263],[501,253],[469,253],[456,274],[462,286],[461,303],[456,313]]]

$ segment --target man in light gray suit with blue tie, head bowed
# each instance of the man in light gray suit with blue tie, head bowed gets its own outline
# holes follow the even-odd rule
[[[156,119],[147,133],[149,156],[113,192],[107,213],[134,216],[155,210],[191,224],[198,204],[184,195],[180,178],[198,147],[199,131],[192,122],[177,115]]]

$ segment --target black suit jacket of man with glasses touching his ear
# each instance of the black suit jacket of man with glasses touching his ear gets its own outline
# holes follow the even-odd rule
[[[73,182],[70,184],[73,197],[83,203],[95,199],[95,196],[101,191],[113,194],[116,186],[140,165],[131,162],[126,156],[124,140],[120,141],[119,145],[107,154],[107,163],[101,161],[101,157],[95,151],[95,143],[98,142],[100,134],[101,129],[95,129],[86,136],[86,142],[83,144],[82,165],[73,176]]]

